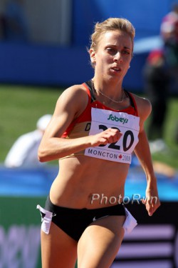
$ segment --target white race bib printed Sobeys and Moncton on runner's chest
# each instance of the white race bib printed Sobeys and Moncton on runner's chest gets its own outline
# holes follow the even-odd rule
[[[85,155],[114,162],[130,164],[132,152],[138,142],[140,117],[120,111],[92,108],[89,135],[95,135],[108,128],[118,129],[122,137],[112,144],[85,149]]]

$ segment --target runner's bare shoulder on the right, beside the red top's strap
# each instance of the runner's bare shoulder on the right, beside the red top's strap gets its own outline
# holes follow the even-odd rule
[[[132,94],[135,98],[138,114],[141,119],[144,121],[147,119],[148,116],[150,116],[152,111],[152,104],[150,103],[149,99],[143,98],[141,96],[137,96],[135,94]]]

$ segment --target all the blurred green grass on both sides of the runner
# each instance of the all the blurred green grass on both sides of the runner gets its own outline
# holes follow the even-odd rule
[[[63,89],[38,86],[0,85],[0,162],[4,162],[14,141],[36,128],[36,121],[43,114],[53,114],[58,96]],[[169,111],[164,127],[164,141],[168,150],[153,154],[154,160],[178,169],[178,144],[174,132],[178,116],[178,99],[169,99]],[[146,125],[147,126],[147,125]]]

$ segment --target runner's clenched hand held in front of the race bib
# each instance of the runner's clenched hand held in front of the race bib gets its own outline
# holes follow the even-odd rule
[[[100,144],[111,144],[113,142],[117,142],[120,137],[122,137],[122,133],[118,129],[106,129],[99,134],[91,136],[91,146],[96,147]]]

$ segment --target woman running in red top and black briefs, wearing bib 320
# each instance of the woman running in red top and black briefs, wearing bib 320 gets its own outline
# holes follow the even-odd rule
[[[151,104],[122,88],[134,36],[127,19],[95,24],[89,49],[93,79],[63,91],[43,135],[38,159],[59,159],[60,165],[45,208],[38,205],[43,268],[74,267],[76,259],[79,268],[110,267],[125,230],[132,229],[122,204],[132,152],[147,177],[148,214],[159,207],[144,130]]]

